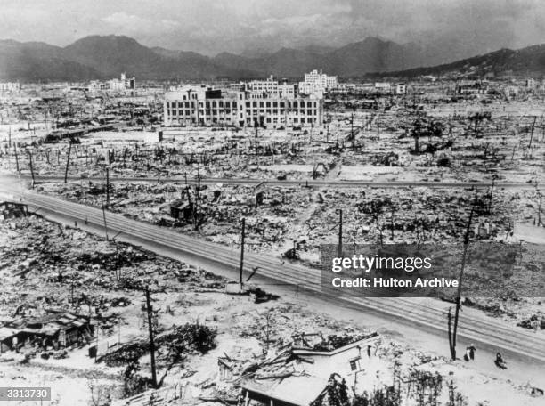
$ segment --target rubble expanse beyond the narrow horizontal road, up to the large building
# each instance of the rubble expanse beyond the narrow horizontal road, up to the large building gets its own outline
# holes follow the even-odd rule
[[[533,101],[382,102],[382,110],[362,108],[358,100],[339,102],[316,128],[126,125],[96,128],[73,142],[14,134],[19,150],[15,142],[2,142],[0,167],[63,176],[69,161],[69,175],[83,177],[105,176],[108,166],[116,177],[305,180],[342,165],[341,180],[545,180],[542,111]]]

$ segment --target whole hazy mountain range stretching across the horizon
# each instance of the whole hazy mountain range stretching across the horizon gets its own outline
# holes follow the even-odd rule
[[[311,45],[260,55],[220,53],[215,57],[150,48],[123,36],[85,37],[65,47],[2,40],[0,79],[79,81],[118,77],[124,71],[139,79],[243,79],[268,75],[297,78],[311,69],[323,69],[338,77],[401,71],[402,75],[412,76],[456,69],[476,73],[545,72],[545,47],[541,45],[518,51],[500,50],[426,68],[443,62],[443,57],[438,56],[441,54],[416,44],[399,45],[377,37],[340,48]]]

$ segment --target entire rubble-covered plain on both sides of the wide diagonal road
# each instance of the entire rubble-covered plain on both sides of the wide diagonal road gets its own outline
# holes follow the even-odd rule
[[[0,171],[58,178],[35,190],[197,241],[240,244],[244,218],[248,251],[313,268],[321,245],[337,242],[339,210],[345,246],[460,243],[466,229],[471,241],[522,244],[545,230],[545,122],[542,94],[508,92],[511,85],[467,95],[441,79],[415,82],[401,97],[331,93],[323,126],[276,129],[161,126],[162,85],[134,97],[36,85],[0,103]],[[61,183],[64,176],[78,180]],[[431,181],[468,187],[411,186]],[[530,283],[539,277],[522,255],[518,266]],[[348,395],[354,406],[543,400],[534,377],[506,378],[503,361],[482,369],[468,349],[460,361],[423,353],[395,327],[378,335],[319,313],[311,299],[242,288],[39,215],[3,215],[0,277],[0,381],[52,386],[52,404],[255,405],[263,394],[312,406]],[[541,297],[506,291],[463,297],[463,306],[545,334]]]

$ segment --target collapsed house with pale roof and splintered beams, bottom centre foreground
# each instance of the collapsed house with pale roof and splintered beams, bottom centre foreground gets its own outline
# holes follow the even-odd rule
[[[309,406],[326,394],[329,377],[338,374],[354,393],[370,390],[384,368],[378,357],[377,333],[348,344],[307,345],[305,340],[282,348],[261,364],[241,365],[228,357],[218,359],[220,378],[241,388],[244,405]]]

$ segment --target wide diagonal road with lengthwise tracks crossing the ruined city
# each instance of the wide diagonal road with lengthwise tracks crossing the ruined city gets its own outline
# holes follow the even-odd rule
[[[50,196],[38,195],[12,186],[2,185],[4,191],[23,199],[29,207],[40,213],[68,216],[83,222],[83,219],[97,227],[103,226],[102,210],[77,203],[67,202]],[[235,271],[240,264],[240,251],[237,245],[223,245],[196,240],[178,232],[148,223],[141,223],[123,215],[106,213],[107,228],[110,236],[122,232],[127,236],[142,241],[146,248],[163,248],[183,255],[187,263],[214,264]],[[281,264],[278,257],[266,255],[245,255],[245,276],[258,268],[261,278],[273,280],[279,284],[288,284],[301,293],[320,295],[329,302],[342,301],[346,305],[356,306],[367,312],[378,313],[392,325],[402,322],[411,326],[435,332],[439,339],[444,339],[446,346],[446,308],[444,302],[433,299],[415,298],[372,298],[329,296],[321,290],[320,271],[296,264]],[[473,309],[464,309],[460,319],[459,339],[474,342],[487,348],[497,348],[502,353],[513,353],[534,362],[545,362],[545,337],[507,323],[484,316]],[[459,350],[463,353],[463,350]]]

